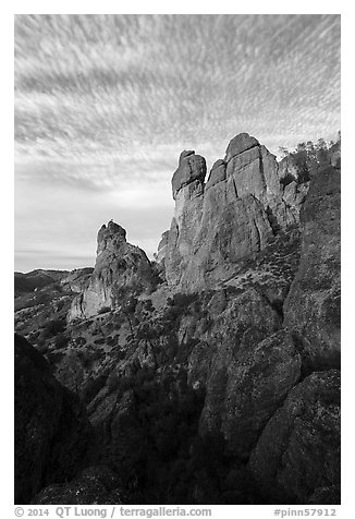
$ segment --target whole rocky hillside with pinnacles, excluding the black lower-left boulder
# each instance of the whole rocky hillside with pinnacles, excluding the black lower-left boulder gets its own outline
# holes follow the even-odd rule
[[[100,448],[36,503],[339,503],[339,166],[240,134],[206,183],[181,155],[159,268],[103,226],[66,342],[41,346]]]

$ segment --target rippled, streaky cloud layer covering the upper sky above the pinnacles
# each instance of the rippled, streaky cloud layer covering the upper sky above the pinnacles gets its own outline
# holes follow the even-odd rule
[[[339,38],[336,15],[19,15],[16,156],[114,184],[243,130],[273,148],[334,133]]]

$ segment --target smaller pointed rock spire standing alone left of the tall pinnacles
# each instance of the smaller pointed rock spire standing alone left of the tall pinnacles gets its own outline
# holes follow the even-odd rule
[[[125,230],[113,221],[101,227],[94,271],[88,287],[74,299],[69,321],[118,306],[123,292],[140,293],[152,288],[149,260],[142,249],[127,243],[125,236]]]

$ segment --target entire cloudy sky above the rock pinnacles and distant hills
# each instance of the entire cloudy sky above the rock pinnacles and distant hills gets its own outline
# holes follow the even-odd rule
[[[183,149],[340,130],[339,15],[15,15],[14,47],[16,270],[94,265],[111,218],[151,257]]]

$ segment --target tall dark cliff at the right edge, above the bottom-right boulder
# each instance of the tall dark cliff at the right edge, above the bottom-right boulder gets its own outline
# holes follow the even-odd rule
[[[284,305],[304,361],[315,369],[340,365],[340,172],[332,167],[310,182],[301,213],[302,252]]]

